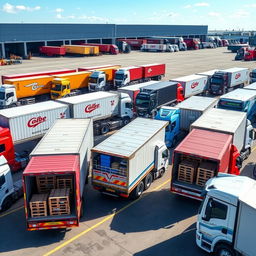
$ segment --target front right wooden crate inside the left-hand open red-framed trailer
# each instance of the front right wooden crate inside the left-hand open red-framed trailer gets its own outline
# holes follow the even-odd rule
[[[52,189],[48,198],[50,215],[70,214],[70,189]]]

